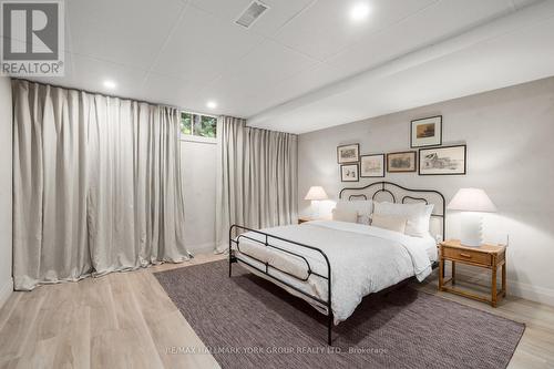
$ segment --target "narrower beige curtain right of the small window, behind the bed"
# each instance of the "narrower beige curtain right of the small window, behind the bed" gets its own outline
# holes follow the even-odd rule
[[[217,120],[217,250],[228,247],[229,226],[264,228],[297,221],[295,134],[247,127],[242,119]]]

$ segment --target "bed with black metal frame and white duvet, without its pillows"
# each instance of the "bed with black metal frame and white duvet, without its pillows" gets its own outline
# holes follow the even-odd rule
[[[265,229],[233,225],[229,229],[229,277],[239,263],[291,295],[311,304],[332,325],[348,319],[365,296],[416,278],[437,266],[435,236],[444,235],[444,196],[434,189],[411,189],[376,182],[340,192],[342,201],[429,205],[429,233],[418,237],[367,224],[312,221]],[[382,204],[382,203],[380,203]],[[432,206],[430,206],[432,205]]]

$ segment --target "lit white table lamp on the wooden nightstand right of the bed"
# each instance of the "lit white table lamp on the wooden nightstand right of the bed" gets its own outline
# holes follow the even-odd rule
[[[460,188],[450,201],[450,211],[462,212],[461,237],[464,246],[481,246],[483,243],[483,216],[481,213],[494,213],[496,206],[481,188]]]

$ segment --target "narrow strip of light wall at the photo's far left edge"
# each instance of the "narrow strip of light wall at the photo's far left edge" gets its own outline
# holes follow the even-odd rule
[[[11,279],[11,83],[0,76],[0,307],[10,296]]]

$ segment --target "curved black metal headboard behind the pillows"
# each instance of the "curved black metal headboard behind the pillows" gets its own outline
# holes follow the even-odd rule
[[[447,239],[447,201],[444,195],[437,189],[416,189],[401,186],[399,184],[380,181],[370,183],[363,187],[346,187],[340,189],[339,198],[349,201],[352,199],[376,199],[379,194],[387,194],[392,199],[392,203],[398,203],[400,198],[401,204],[407,201],[422,202],[427,205],[433,204],[432,217],[441,218],[442,237]],[[346,197],[348,195],[348,197]],[[369,196],[369,197],[368,197]]]

